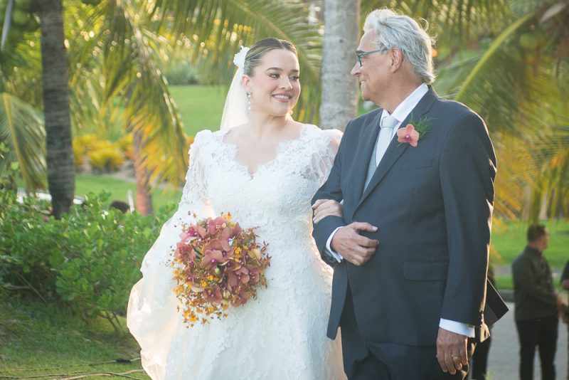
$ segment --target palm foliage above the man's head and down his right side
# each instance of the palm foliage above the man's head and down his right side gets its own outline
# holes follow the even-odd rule
[[[444,97],[486,121],[499,162],[496,215],[567,215],[569,1],[373,1],[424,18]],[[528,149],[528,147],[532,147]]]

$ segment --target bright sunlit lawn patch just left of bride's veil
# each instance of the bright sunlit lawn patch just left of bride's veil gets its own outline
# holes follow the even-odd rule
[[[195,136],[201,130],[219,130],[227,88],[186,85],[169,89],[178,103],[186,134]]]

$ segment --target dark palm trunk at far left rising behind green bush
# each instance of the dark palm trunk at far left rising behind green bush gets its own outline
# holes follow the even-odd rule
[[[60,218],[62,213],[69,211],[75,192],[63,4],[62,0],[37,0],[36,4],[41,19],[48,189],[53,216]]]

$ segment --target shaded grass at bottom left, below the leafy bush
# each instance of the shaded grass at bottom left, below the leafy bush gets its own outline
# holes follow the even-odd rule
[[[63,379],[97,372],[129,373],[149,379],[139,360],[139,347],[127,332],[115,332],[106,320],[86,324],[65,307],[43,305],[40,300],[10,297],[0,300],[0,379],[26,376]],[[103,364],[101,364],[103,363]],[[12,376],[12,377],[9,377]],[[100,379],[87,376],[85,379]]]

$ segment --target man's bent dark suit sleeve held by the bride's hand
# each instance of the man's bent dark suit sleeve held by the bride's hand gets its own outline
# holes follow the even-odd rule
[[[312,204],[314,204],[318,199],[334,199],[334,201],[338,202],[344,199],[341,190],[342,157],[344,150],[346,149],[346,136],[348,134],[348,130],[349,125],[346,127],[344,137],[341,139],[338,153],[334,158],[334,164],[332,165],[328,179],[326,179],[324,184],[314,195],[314,198],[312,198]],[[318,224],[313,223],[313,226],[314,229],[312,231],[312,236],[314,237],[314,241],[317,243],[322,260],[331,266],[336,265],[338,260],[336,260],[336,258],[326,250],[326,241],[336,228],[345,226],[344,218],[340,218],[339,216],[326,216],[326,218],[319,221]]]

